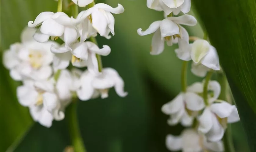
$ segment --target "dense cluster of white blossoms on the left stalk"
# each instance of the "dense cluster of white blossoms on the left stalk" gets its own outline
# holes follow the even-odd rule
[[[93,0],[72,1],[80,7],[94,4]],[[64,12],[41,12],[28,22],[21,43],[14,43],[5,51],[3,62],[10,76],[23,82],[17,88],[18,101],[29,107],[34,121],[50,127],[53,120],[64,119],[65,108],[74,99],[107,98],[112,87],[120,97],[127,95],[118,72],[102,67],[100,55],[110,54],[110,47],[99,48],[94,38],[99,33],[110,39],[115,23],[112,13],[123,12],[120,4],[112,8],[99,3],[75,18]],[[58,38],[63,40],[62,45],[54,42]],[[74,68],[70,62],[87,70]]]

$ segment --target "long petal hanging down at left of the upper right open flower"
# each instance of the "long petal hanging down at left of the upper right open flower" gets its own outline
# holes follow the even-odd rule
[[[161,54],[164,48],[165,48],[164,40],[161,37],[160,29],[158,29],[152,37],[150,54],[151,55]]]

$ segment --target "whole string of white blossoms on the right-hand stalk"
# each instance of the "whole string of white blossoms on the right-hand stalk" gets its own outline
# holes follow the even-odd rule
[[[177,43],[179,47],[175,53],[185,65],[192,60],[191,72],[198,77],[207,75],[202,82],[183,86],[176,98],[162,106],[162,112],[170,116],[167,121],[170,126],[181,123],[188,127],[180,136],[168,135],[166,147],[171,151],[222,152],[222,137],[227,123],[237,122],[240,118],[235,105],[218,99],[221,93],[219,82],[210,80],[211,74],[220,70],[215,47],[199,38],[189,43],[190,36],[181,26],[197,24],[193,16],[186,14],[190,11],[190,3],[190,0],[147,0],[148,8],[164,11],[165,19],[153,22],[145,31],[140,28],[137,33],[140,36],[154,33],[150,51],[152,55],[163,52],[165,41],[168,46]],[[185,71],[186,68],[183,74]]]

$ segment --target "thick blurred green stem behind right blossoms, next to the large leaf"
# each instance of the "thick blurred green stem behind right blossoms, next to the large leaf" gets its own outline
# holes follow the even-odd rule
[[[222,72],[222,73],[218,73],[217,76],[218,76],[218,82],[221,86],[221,94],[219,95],[219,99],[227,101],[231,104],[232,103],[231,97],[230,99],[227,98],[227,95],[229,95],[230,91],[229,91],[229,85],[228,85],[226,75]],[[225,151],[235,152],[230,124],[227,125],[227,129],[223,137],[223,142],[224,142]]]

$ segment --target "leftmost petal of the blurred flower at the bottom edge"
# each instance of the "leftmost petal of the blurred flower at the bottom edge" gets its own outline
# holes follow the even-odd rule
[[[171,151],[182,149],[182,138],[180,136],[167,135],[165,140],[166,147]]]

